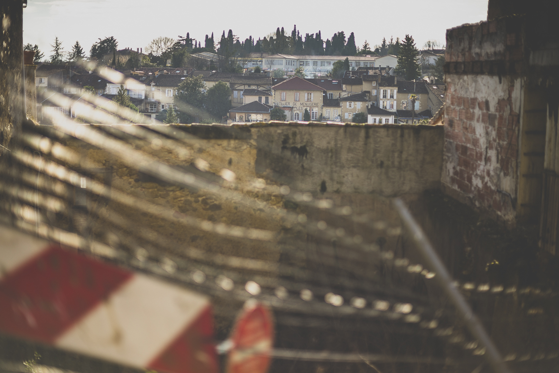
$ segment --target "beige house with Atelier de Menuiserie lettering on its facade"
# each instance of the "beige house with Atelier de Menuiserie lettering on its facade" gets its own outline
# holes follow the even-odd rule
[[[311,121],[318,121],[323,107],[323,88],[293,76],[272,86],[272,99],[274,106],[286,112],[288,121],[302,121],[305,109]]]

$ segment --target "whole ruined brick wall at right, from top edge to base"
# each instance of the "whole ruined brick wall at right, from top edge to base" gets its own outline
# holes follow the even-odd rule
[[[444,192],[513,223],[524,66],[520,22],[447,31]]]

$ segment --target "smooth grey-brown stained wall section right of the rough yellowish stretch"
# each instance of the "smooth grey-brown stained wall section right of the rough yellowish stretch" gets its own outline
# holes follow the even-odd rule
[[[442,126],[251,129],[255,170],[297,190],[395,196],[440,186]]]

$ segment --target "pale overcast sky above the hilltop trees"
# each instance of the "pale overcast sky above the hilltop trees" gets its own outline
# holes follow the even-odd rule
[[[230,0],[29,0],[23,9],[23,42],[39,45],[50,56],[54,37],[64,50],[79,41],[86,54],[98,38],[114,36],[119,49],[145,48],[158,36],[190,36],[204,42],[214,32],[231,28],[241,41],[249,35],[264,37],[277,27],[291,34],[297,25],[304,36],[321,31],[324,40],[334,32],[354,32],[357,46],[371,46],[383,37],[410,34],[417,47],[427,40],[445,42],[447,28],[475,23],[487,17],[487,0],[339,0],[288,2],[236,2]]]

